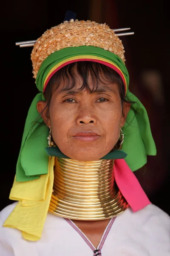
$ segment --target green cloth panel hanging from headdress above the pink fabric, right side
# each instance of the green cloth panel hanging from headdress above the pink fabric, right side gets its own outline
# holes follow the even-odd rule
[[[133,102],[123,128],[124,143],[122,150],[127,153],[125,161],[132,171],[147,163],[147,155],[156,155],[156,146],[150,130],[147,111],[139,99],[127,91],[127,97]]]

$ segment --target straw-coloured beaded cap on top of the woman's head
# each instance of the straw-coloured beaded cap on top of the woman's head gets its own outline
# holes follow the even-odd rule
[[[122,41],[106,24],[94,21],[70,20],[47,30],[34,45],[31,53],[34,78],[40,65],[51,53],[67,47],[94,46],[118,55],[125,62]]]

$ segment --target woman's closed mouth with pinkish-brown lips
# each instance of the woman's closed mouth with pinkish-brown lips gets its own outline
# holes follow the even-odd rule
[[[101,136],[99,134],[91,131],[83,131],[73,136],[75,140],[84,141],[84,142],[93,142],[98,140],[100,137]]]

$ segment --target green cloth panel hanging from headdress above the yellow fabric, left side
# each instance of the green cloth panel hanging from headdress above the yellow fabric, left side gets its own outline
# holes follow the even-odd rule
[[[42,93],[35,96],[26,118],[17,160],[17,181],[38,179],[39,175],[48,173],[48,155],[45,152],[48,128],[37,111],[37,102],[40,100],[44,100]]]

